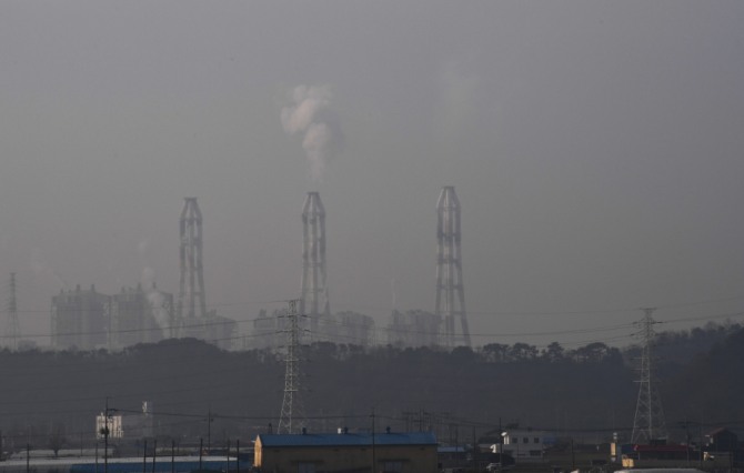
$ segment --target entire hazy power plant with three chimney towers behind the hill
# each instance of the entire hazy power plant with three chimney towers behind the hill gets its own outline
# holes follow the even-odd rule
[[[378,329],[369,315],[332,313],[328,286],[325,208],[318,192],[302,207],[302,270],[299,313],[302,343],[334,342],[371,346],[471,345],[462,276],[461,207],[453,187],[436,203],[435,294],[433,311],[393,308]],[[179,220],[178,296],[154,284],[121,288],[117,294],[90,289],[61,291],[51,301],[52,348],[121,350],[138,343],[193,338],[221,349],[274,349],[285,342],[286,312],[261,310],[242,334],[238,323],[208,310],[203,273],[203,219],[197,198],[185,198]],[[14,304],[14,301],[13,301]],[[9,311],[10,312],[10,311]]]

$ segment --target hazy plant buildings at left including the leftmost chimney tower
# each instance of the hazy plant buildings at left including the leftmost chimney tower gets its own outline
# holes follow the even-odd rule
[[[164,339],[194,338],[232,348],[235,322],[207,310],[202,265],[202,214],[187,198],[180,230],[180,285],[173,294],[154,284],[122,288],[118,294],[81,289],[60,291],[51,301],[51,341],[58,350],[121,350]]]

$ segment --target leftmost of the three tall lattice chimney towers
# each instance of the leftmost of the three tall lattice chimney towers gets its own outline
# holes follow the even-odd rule
[[[177,321],[179,336],[199,333],[198,319],[207,316],[204,273],[202,271],[202,219],[197,198],[185,198],[180,220],[181,281]]]

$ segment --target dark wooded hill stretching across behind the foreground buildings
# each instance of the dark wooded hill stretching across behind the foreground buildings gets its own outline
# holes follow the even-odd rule
[[[629,435],[639,353],[636,346],[604,343],[452,351],[315,343],[303,348],[300,395],[311,431],[371,429],[374,422],[381,430],[433,429],[446,441],[519,423],[557,433]],[[738,324],[661,334],[655,353],[673,435],[682,435],[685,421],[706,429],[741,423],[744,330]],[[225,352],[193,339],[117,353],[2,351],[0,376],[6,450],[92,442],[94,416],[107,399],[111,412],[123,415],[141,415],[142,402],[149,401],[159,436],[250,442],[277,427],[284,389],[282,353]]]

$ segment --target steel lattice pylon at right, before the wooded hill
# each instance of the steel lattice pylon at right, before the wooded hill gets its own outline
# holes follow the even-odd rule
[[[641,378],[639,382],[639,401],[635,406],[635,420],[633,421],[632,443],[650,443],[655,439],[666,437],[666,424],[662,400],[653,374],[652,348],[654,343],[653,319],[656,309],[643,309],[645,315],[640,322],[641,335],[643,336],[643,353],[641,355]]]

